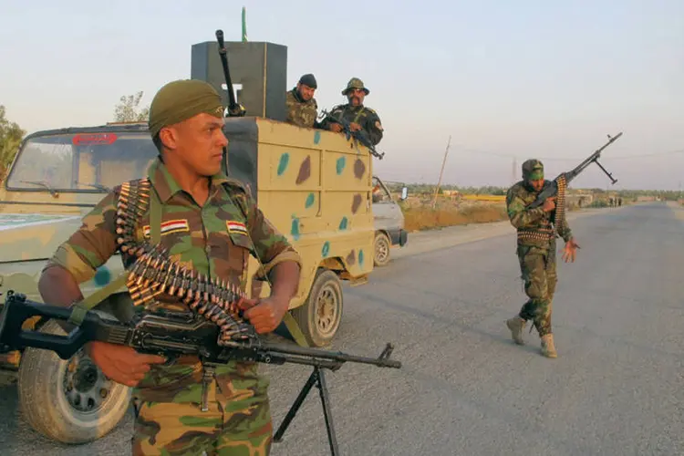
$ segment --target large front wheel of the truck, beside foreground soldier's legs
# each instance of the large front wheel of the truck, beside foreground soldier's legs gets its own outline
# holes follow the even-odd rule
[[[51,320],[40,332],[64,335]],[[119,423],[131,389],[106,378],[83,351],[66,360],[52,351],[26,348],[17,389],[24,419],[36,431],[64,443],[98,440]]]

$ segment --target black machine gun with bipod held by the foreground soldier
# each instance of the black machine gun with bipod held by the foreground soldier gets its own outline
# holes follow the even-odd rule
[[[191,312],[156,311],[134,316],[130,323],[121,323],[113,317],[109,319],[88,310],[83,322],[67,336],[22,328],[26,319],[33,316],[55,318],[66,323],[71,316],[71,309],[41,304],[27,299],[26,295],[8,291],[0,314],[0,351],[35,347],[54,351],[59,358],[69,359],[86,343],[97,340],[133,347],[140,353],[161,355],[168,359],[167,364],[180,356],[194,355],[201,358],[205,366],[214,368],[232,360],[312,366],[313,373],[276,430],[274,441],[282,440],[309,390],[316,384],[333,455],[338,454],[337,437],[327,397],[326,379],[321,369],[336,371],[346,362],[372,364],[378,368],[401,368],[400,361],[389,359],[394,349],[391,344],[387,344],[378,358],[364,358],[339,351],[269,343],[259,337],[219,343],[219,326]]]

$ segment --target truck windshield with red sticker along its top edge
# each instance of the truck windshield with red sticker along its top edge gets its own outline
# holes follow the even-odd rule
[[[147,131],[36,136],[19,150],[9,190],[108,192],[140,179],[158,155]]]

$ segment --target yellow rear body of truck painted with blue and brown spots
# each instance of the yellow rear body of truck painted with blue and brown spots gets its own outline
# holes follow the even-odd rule
[[[355,283],[366,280],[373,269],[375,236],[368,149],[337,133],[270,119],[226,119],[226,124],[229,132],[257,132],[254,148],[231,150],[229,145],[229,170],[230,161],[241,160],[242,153],[255,153],[252,187],[259,207],[304,258],[290,308],[306,304],[320,269]],[[258,267],[251,261],[250,276]],[[268,285],[261,295],[268,295]]]

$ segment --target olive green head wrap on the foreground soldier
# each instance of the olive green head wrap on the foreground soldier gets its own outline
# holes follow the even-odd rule
[[[150,105],[150,135],[163,127],[202,112],[223,119],[221,95],[209,83],[197,79],[171,81],[160,88]]]

